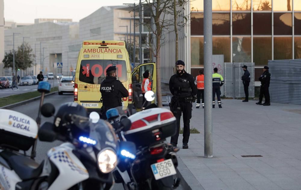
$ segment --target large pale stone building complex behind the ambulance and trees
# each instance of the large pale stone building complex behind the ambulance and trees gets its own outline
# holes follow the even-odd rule
[[[3,1],[3,0],[2,0]],[[139,44],[138,12],[136,13],[136,47]],[[126,27],[128,26],[128,31]],[[84,40],[124,40],[133,43],[134,17],[129,13],[127,6],[101,7],[89,16],[81,19],[79,23],[71,19],[35,19],[29,26],[16,27],[5,30],[5,52],[12,50],[13,33],[15,35],[15,50],[24,41],[29,43],[36,54],[36,66],[27,69],[27,74],[40,72],[44,60],[43,73],[54,72],[71,75],[70,70],[76,68],[78,52]],[[147,40],[149,32],[142,27],[143,40]],[[41,51],[40,51],[41,44]],[[36,48],[35,48],[36,47]],[[44,48],[44,50],[43,50]],[[148,61],[147,51],[144,50],[144,60]],[[136,48],[138,57],[139,48]],[[132,60],[131,60],[132,61]],[[54,62],[62,62],[63,69],[53,68]],[[25,74],[26,74],[25,72]],[[5,75],[10,75],[11,69],[5,69]],[[23,75],[23,73],[22,73]]]

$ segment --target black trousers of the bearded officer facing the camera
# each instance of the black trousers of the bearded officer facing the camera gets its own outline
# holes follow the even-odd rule
[[[177,107],[180,108],[177,109]],[[180,120],[183,112],[183,121],[184,121],[184,130],[183,130],[183,143],[188,143],[190,136],[190,119],[192,111],[191,102],[178,102],[175,104],[174,109],[177,109],[177,113],[174,113],[175,118],[177,119],[177,132],[174,136],[171,137],[170,142],[178,144],[179,130],[180,130]]]

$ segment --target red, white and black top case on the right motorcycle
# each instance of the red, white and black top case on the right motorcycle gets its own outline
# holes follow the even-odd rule
[[[173,136],[177,130],[176,118],[165,108],[152,108],[129,116],[132,127],[125,132],[128,141],[136,146],[150,146]]]

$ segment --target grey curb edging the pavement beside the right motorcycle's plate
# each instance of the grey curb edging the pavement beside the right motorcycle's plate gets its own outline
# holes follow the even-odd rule
[[[185,190],[204,190],[203,186],[200,182],[194,177],[191,171],[184,164],[182,159],[177,156],[178,159],[178,167],[176,168],[177,174],[176,176],[181,179],[180,184]],[[184,176],[183,176],[184,174]]]

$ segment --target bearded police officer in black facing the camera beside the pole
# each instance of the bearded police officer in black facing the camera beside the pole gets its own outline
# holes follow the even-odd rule
[[[194,77],[188,74],[185,69],[185,63],[178,60],[176,63],[177,73],[172,75],[169,80],[169,90],[173,97],[170,103],[170,110],[177,119],[177,131],[170,139],[170,144],[177,146],[180,119],[183,112],[184,130],[183,130],[183,149],[188,149],[188,140],[190,136],[190,119],[192,111],[192,102],[195,101],[194,96],[197,94],[197,86],[194,83]]]

